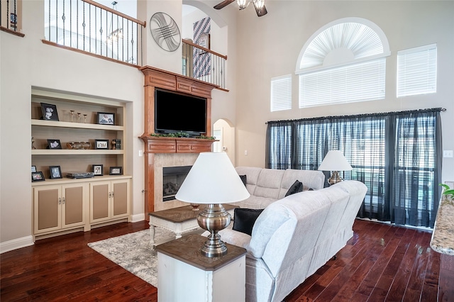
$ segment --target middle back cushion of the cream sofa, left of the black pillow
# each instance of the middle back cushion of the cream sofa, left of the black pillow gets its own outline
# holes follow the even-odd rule
[[[253,195],[278,199],[284,173],[284,170],[262,169],[258,176],[257,186],[255,186]],[[290,184],[290,186],[292,186],[292,184]]]

